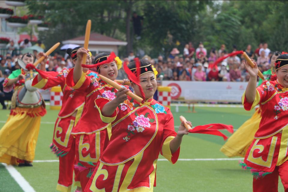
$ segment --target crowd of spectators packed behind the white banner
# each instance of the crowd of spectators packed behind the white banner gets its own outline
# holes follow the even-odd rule
[[[232,47],[233,52],[237,51],[237,47]],[[240,49],[241,50],[241,49]],[[268,44],[259,44],[252,50],[251,45],[247,45],[243,50],[247,55],[256,61],[261,72],[271,68],[270,58],[272,52],[268,49]],[[224,59],[215,67],[214,62],[219,57],[223,57],[229,52],[226,46],[222,44],[220,48],[207,49],[200,42],[195,49],[193,44],[189,42],[184,46],[183,52],[177,48],[173,48],[169,57],[163,58],[159,56],[157,59],[151,59],[145,56],[158,70],[158,78],[163,80],[180,80],[180,81],[248,81],[249,74],[247,73],[242,55],[235,55]],[[128,60],[133,52],[128,56]]]

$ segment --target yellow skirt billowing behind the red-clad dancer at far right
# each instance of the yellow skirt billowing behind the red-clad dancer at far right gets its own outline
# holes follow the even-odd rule
[[[262,115],[258,108],[250,119],[241,125],[220,149],[227,157],[245,157],[245,154],[259,128]]]

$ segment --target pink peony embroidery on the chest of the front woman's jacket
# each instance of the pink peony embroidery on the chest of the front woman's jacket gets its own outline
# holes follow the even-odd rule
[[[135,135],[136,133],[142,133],[145,131],[145,128],[150,128],[151,123],[155,121],[155,119],[149,119],[148,118],[149,113],[146,113],[145,115],[138,115],[137,111],[135,112],[135,120],[130,123],[127,127],[127,136],[123,137],[123,140],[129,141],[131,138],[131,134]],[[137,132],[136,132],[137,131]]]

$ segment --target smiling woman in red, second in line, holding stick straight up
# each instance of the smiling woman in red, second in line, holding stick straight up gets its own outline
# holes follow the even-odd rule
[[[85,76],[82,72],[81,60],[82,55],[87,54],[87,50],[80,48],[76,54],[79,61],[77,60],[74,69],[67,75],[66,83],[85,97],[82,116],[72,132],[76,137],[76,168],[80,170],[80,183],[84,189],[111,136],[111,125],[101,121],[94,101],[99,97],[114,99],[117,89],[99,79],[97,73]],[[121,60],[114,53],[107,52],[97,55],[94,63],[85,67],[97,67],[99,74],[113,81],[122,66]]]

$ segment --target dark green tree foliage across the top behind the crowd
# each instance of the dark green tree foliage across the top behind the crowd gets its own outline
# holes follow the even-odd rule
[[[173,47],[183,50],[189,41],[197,47],[218,49],[225,44],[256,49],[267,42],[271,50],[288,51],[286,1],[26,1],[29,12],[45,16],[50,30],[40,36],[49,47],[84,35],[88,19],[92,32],[128,41],[129,49],[156,57]],[[132,12],[144,17],[141,39],[133,36]],[[131,35],[130,35],[131,34]]]

